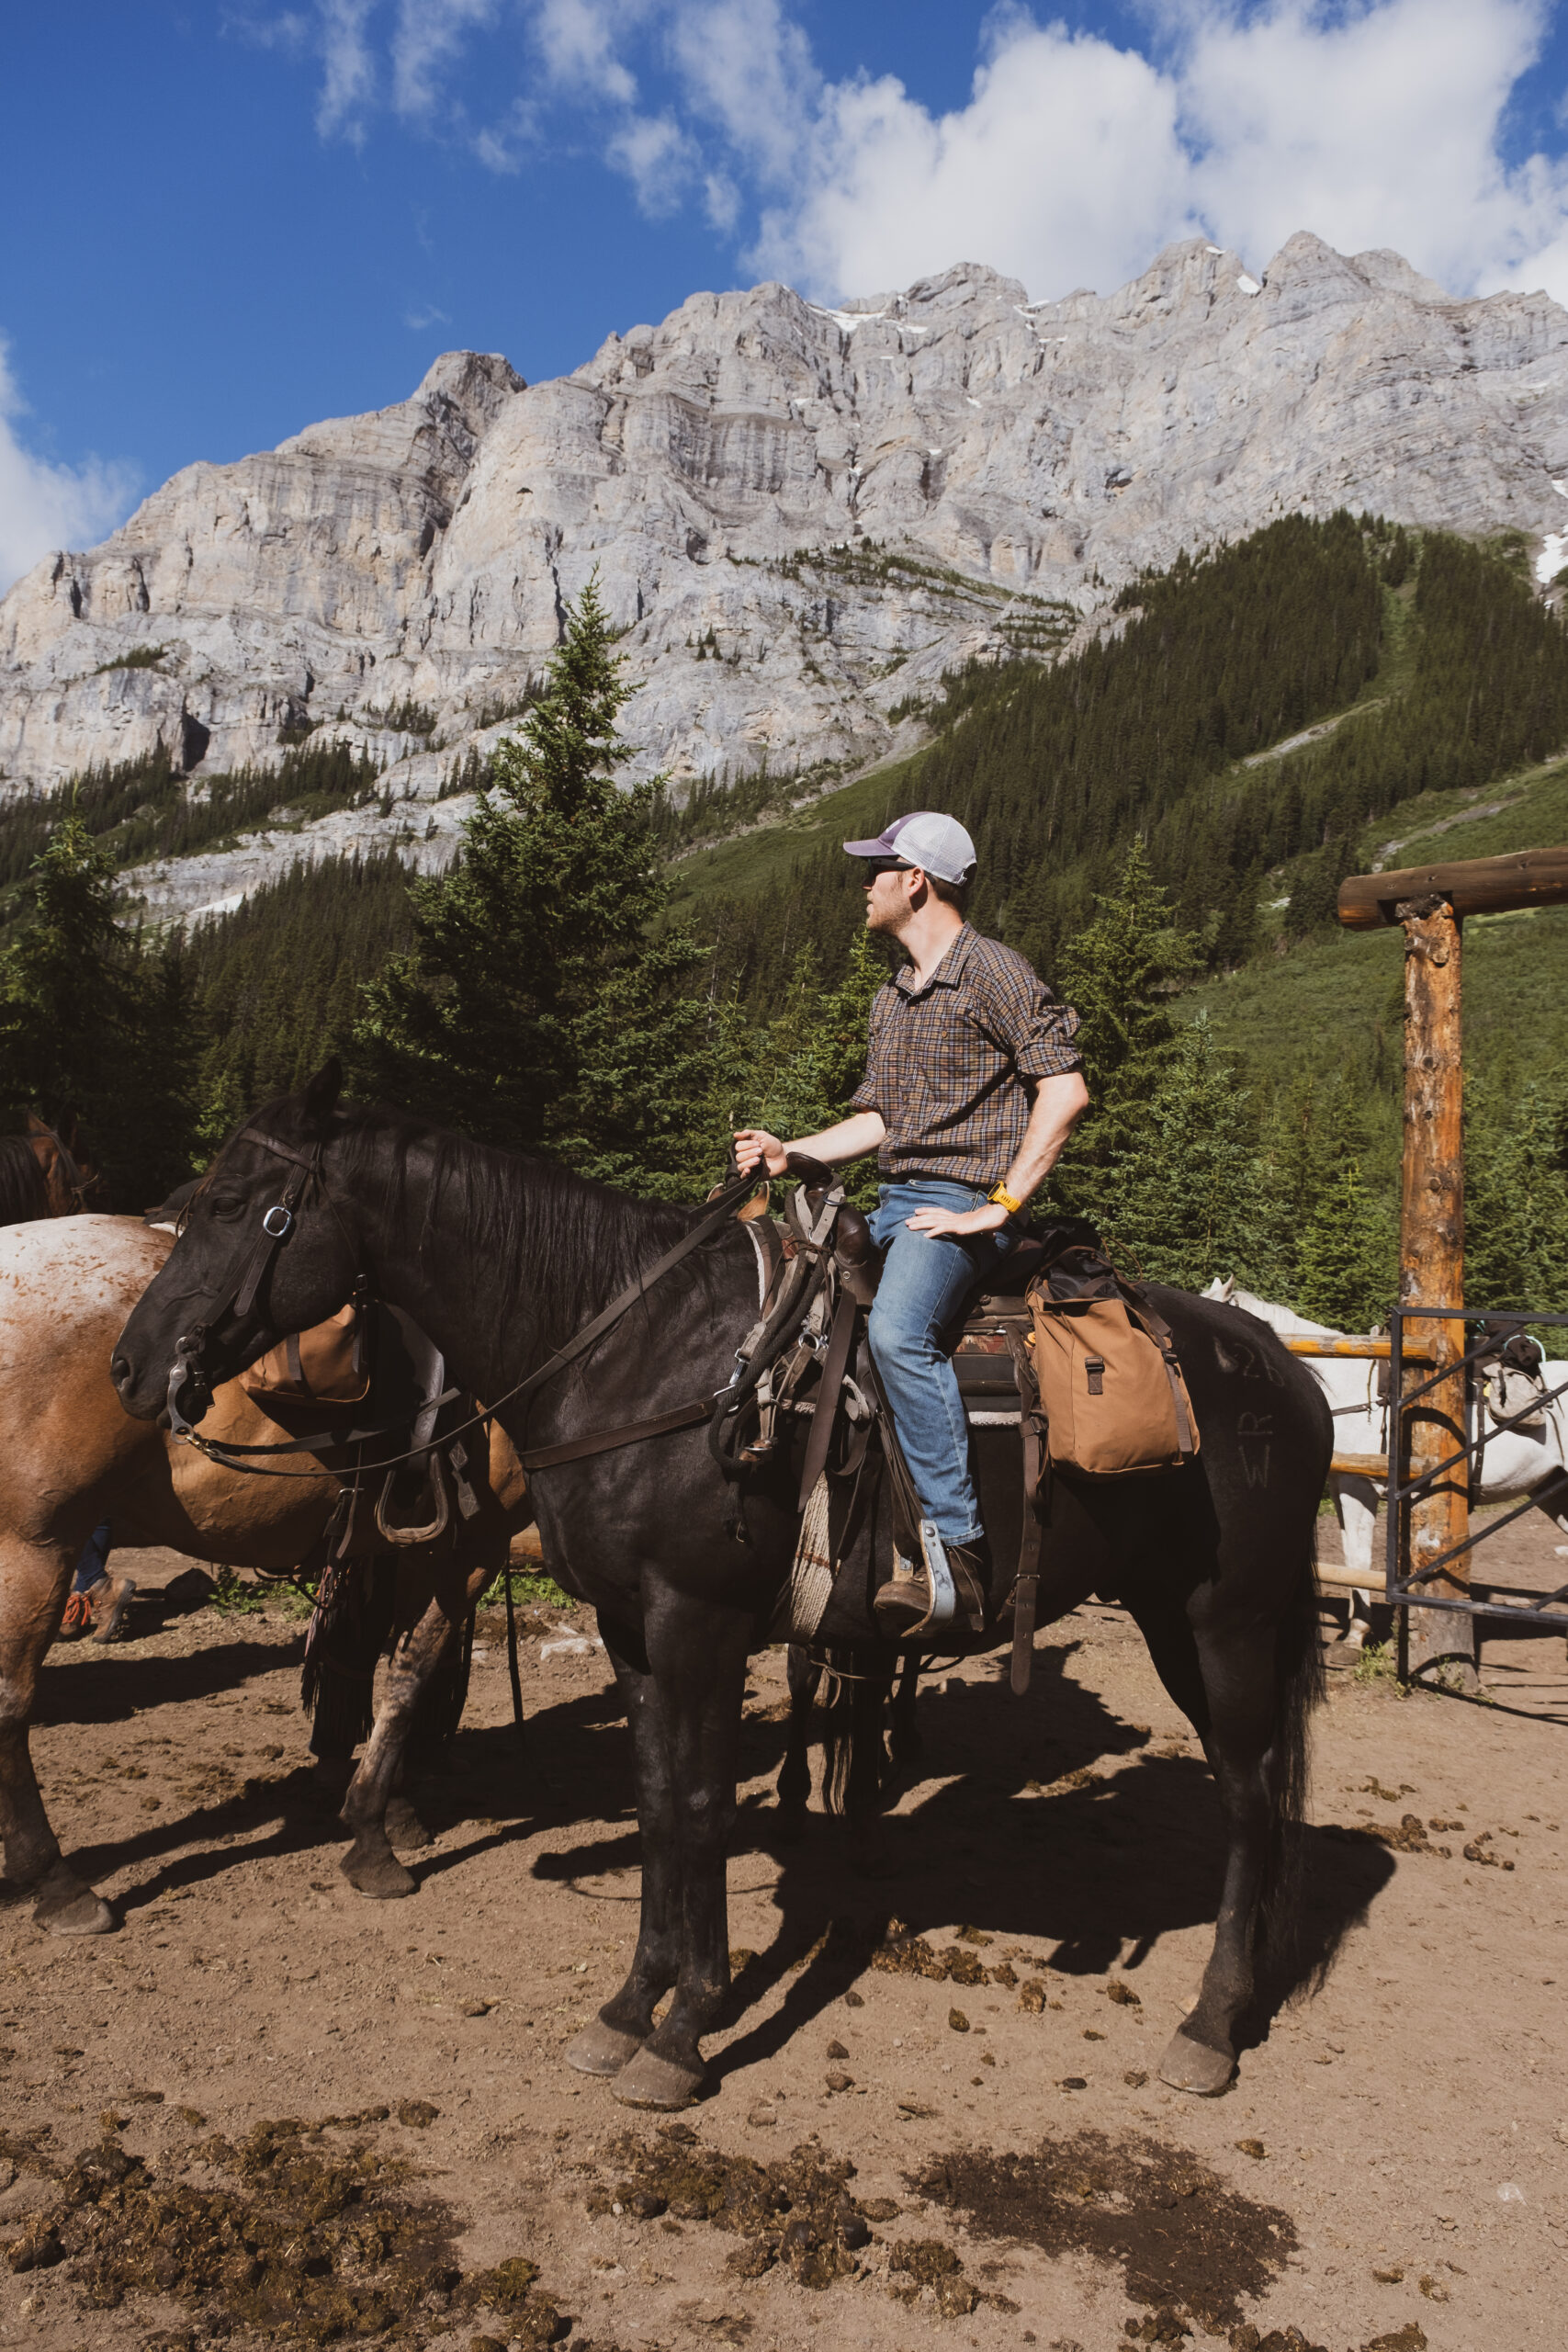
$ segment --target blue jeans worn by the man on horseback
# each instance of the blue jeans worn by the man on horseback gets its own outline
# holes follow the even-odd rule
[[[893,1428],[914,1491],[943,1543],[976,1543],[980,1505],[969,1475],[969,1423],[952,1369],[957,1315],[969,1291],[1013,1247],[1013,1235],[912,1232],[917,1209],[978,1209],[983,1192],[945,1176],[884,1183],[872,1209],[872,1237],[886,1251],[870,1315],[877,1374],[893,1406]]]

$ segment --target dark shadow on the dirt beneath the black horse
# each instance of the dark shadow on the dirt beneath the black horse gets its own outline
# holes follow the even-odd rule
[[[1077,1684],[1074,1646],[1037,1653],[1034,1686],[1009,1700],[1016,1712],[1001,1729],[1004,1689],[990,1679],[922,1698],[926,1757],[943,1778],[877,1823],[872,1858],[846,1823],[816,1813],[806,1837],[780,1849],[778,1933],[738,1971],[726,2025],[741,2032],[715,2053],[715,2082],[776,2058],[844,1999],[891,1933],[940,1943],[938,1931],[961,1922],[985,1938],[969,1945],[980,1964],[999,1959],[987,1945],[1023,1945],[1020,1973],[1117,1969],[1133,1985],[1164,1936],[1213,1924],[1227,1842],[1208,1764],[1159,1748]],[[1121,1769],[1105,1778],[1095,1766],[1112,1759]],[[745,1820],[750,1844],[766,1844],[769,1816],[750,1809]],[[1237,2027],[1241,2049],[1321,1987],[1392,1875],[1392,1856],[1371,1837],[1295,1832],[1293,1931],[1260,1971]],[[783,2002],[762,2013],[780,1985]]]

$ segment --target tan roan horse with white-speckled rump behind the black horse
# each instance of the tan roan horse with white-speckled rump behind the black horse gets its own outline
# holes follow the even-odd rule
[[[284,1456],[287,1475],[228,1470],[165,1428],[122,1411],[106,1376],[115,1336],[169,1254],[167,1230],[129,1216],[68,1216],[0,1232],[0,1828],[12,1889],[31,1891],[33,1917],[54,1936],[101,1936],[115,1926],[106,1903],[61,1858],[33,1776],[28,1724],[38,1670],[54,1639],[82,1543],[99,1519],[120,1543],[162,1543],[195,1559],[287,1571],[306,1557],[339,1498],[322,1463]],[[219,1390],[205,1435],[230,1444],[277,1444],[277,1428],[254,1397]],[[369,1449],[364,1449],[369,1451]],[[411,1893],[393,1853],[386,1806],[397,1788],[418,1696],[447,1644],[449,1621],[505,1566],[510,1531],[529,1517],[517,1465],[498,1446],[482,1475],[470,1449],[480,1512],[461,1522],[449,1550],[400,1555],[397,1625],[369,1750],[343,1802],[355,1832],[343,1858],[353,1886],[371,1896]],[[367,1548],[381,1541],[367,1529]],[[357,1545],[355,1545],[357,1550]]]

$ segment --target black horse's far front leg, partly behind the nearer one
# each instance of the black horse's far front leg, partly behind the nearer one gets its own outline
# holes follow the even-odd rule
[[[642,1917],[632,1966],[599,2016],[569,2044],[567,2065],[578,2074],[621,2074],[654,2032],[654,2009],[679,1976],[682,1952],[682,1865],[675,1823],[675,1780],[670,1743],[654,1675],[625,1651],[614,1623],[599,1613],[599,1635],[621,1684],[625,1719],[632,1733],[632,1792],[642,1835]],[[790,1696],[795,1700],[795,1651],[790,1651]],[[811,1700],[802,1712],[809,1712]],[[804,1736],[802,1736],[804,1748]],[[811,1778],[809,1766],[806,1783]]]

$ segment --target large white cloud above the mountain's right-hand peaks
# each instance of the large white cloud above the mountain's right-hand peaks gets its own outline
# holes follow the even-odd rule
[[[1453,292],[1568,299],[1568,162],[1500,155],[1554,0],[1143,0],[1138,47],[1001,0],[947,111],[891,73],[825,78],[790,0],[395,0],[386,68],[374,12],[317,0],[324,132],[357,136],[386,87],[510,172],[576,111],[644,212],[693,200],[818,296],[961,259],[1041,296],[1110,292],[1171,238],[1262,266],[1312,228]],[[517,24],[520,87],[475,134],[437,99],[475,38]]]

